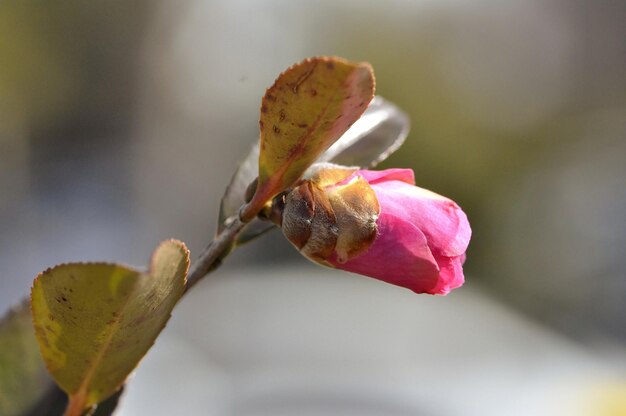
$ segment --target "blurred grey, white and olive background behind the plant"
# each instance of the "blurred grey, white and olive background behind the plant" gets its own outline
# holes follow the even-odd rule
[[[383,167],[468,213],[466,285],[416,296],[272,232],[177,307],[120,414],[626,414],[625,21],[619,0],[2,1],[0,310],[57,263],[199,253],[265,88],[339,55],[411,117]]]

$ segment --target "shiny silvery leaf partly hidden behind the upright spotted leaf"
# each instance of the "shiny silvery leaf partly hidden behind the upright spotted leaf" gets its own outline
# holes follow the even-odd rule
[[[404,143],[409,133],[409,117],[393,103],[380,96],[374,97],[365,113],[316,160],[340,165],[372,168],[385,160]],[[255,144],[239,165],[226,188],[220,205],[219,230],[225,220],[236,215],[245,204],[248,185],[257,177],[259,146]],[[266,231],[274,224],[254,219],[237,236],[236,243],[244,244]]]

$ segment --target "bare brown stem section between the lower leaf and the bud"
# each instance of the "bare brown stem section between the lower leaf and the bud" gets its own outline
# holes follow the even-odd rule
[[[198,260],[191,266],[187,274],[185,293],[193,285],[198,283],[207,274],[217,269],[222,264],[222,259],[228,255],[235,244],[235,238],[239,231],[246,225],[238,215],[228,218],[226,228],[215,237],[213,241],[200,253]]]

